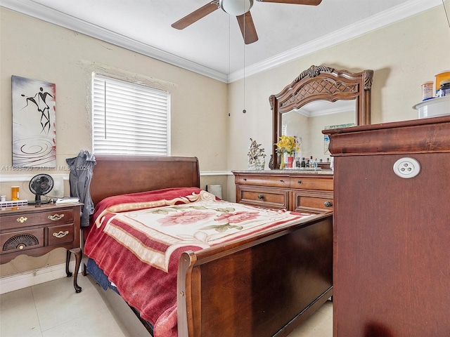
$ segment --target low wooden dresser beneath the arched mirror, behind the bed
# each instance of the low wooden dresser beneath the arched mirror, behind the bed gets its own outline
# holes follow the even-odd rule
[[[236,202],[271,209],[333,211],[332,171],[233,171]]]

